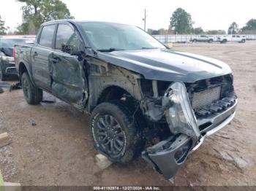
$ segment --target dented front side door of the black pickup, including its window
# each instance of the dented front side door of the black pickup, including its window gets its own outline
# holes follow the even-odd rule
[[[49,56],[49,73],[53,95],[83,110],[88,99],[86,61],[77,55],[63,52],[63,45],[84,51],[78,31],[69,23],[60,23],[56,31],[54,51]]]

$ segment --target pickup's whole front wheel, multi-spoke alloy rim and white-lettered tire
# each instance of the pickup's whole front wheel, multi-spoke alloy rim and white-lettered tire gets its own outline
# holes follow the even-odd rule
[[[129,163],[143,149],[138,122],[122,101],[99,104],[91,114],[94,147],[113,163]]]

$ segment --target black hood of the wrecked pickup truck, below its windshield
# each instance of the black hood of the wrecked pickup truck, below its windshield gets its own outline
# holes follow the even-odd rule
[[[138,72],[145,79],[196,82],[232,73],[216,59],[173,50],[121,50],[99,52],[99,59]]]

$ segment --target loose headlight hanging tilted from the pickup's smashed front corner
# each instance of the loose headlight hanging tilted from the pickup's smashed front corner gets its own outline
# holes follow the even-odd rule
[[[184,133],[194,139],[200,136],[197,120],[187,95],[187,88],[182,82],[174,82],[165,92],[163,101],[170,101],[165,115],[173,134]]]

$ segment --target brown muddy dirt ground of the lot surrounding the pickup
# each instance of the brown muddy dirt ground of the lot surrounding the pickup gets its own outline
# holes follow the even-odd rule
[[[189,155],[176,185],[256,185],[256,42],[176,44],[176,50],[225,61],[233,69],[238,108],[233,122]],[[6,182],[23,185],[170,185],[138,158],[101,171],[89,136],[89,115],[55,103],[26,104],[22,90],[0,94],[0,133],[12,143],[0,149]]]

